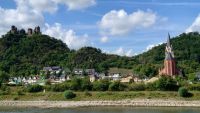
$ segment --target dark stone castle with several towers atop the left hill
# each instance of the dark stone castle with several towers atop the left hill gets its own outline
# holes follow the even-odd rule
[[[12,33],[12,34],[27,34],[28,36],[31,36],[33,34],[41,34],[41,31],[40,31],[40,27],[37,26],[37,27],[35,27],[34,31],[33,31],[32,28],[28,28],[27,33],[26,33],[26,31],[24,29],[17,30],[17,27],[12,25],[9,33]]]

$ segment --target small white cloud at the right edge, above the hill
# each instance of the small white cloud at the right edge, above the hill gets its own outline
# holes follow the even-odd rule
[[[194,32],[194,31],[198,31],[200,32],[200,15],[197,16],[197,18],[195,19],[195,21],[192,23],[192,25],[186,29],[186,33],[188,32]]]

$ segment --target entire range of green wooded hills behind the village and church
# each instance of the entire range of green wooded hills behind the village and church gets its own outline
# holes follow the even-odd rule
[[[171,39],[178,67],[186,74],[200,71],[200,35],[181,34]],[[142,76],[155,76],[163,66],[165,44],[134,57],[102,53],[100,49],[83,47],[70,50],[61,40],[42,34],[11,34],[0,38],[0,76],[38,74],[44,66],[95,68],[105,72],[110,67],[133,69]]]

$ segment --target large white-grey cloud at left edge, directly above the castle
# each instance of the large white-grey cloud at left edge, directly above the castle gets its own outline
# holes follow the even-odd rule
[[[0,35],[5,34],[11,25],[18,28],[43,26],[44,17],[41,13],[29,9],[24,0],[18,0],[16,9],[4,9],[0,7]]]

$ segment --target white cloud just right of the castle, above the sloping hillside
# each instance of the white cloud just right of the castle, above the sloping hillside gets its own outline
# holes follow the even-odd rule
[[[55,23],[52,26],[45,24],[45,26],[44,34],[62,40],[71,49],[79,49],[81,47],[91,45],[87,34],[78,36],[73,30],[67,30],[59,23]]]

